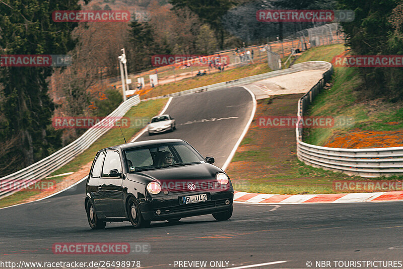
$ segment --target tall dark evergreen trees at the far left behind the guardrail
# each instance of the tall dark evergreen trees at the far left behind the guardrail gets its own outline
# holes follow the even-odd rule
[[[52,21],[51,10],[77,10],[77,1],[0,2],[1,54],[65,54],[75,46],[77,26]],[[0,68],[0,174],[46,157],[61,146],[51,128],[54,104],[47,78],[52,68]]]

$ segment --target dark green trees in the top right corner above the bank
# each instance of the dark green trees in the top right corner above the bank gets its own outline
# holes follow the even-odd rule
[[[347,45],[354,54],[403,54],[403,3],[400,0],[340,0],[339,7],[355,11],[353,22],[341,23],[347,35]],[[368,97],[382,97],[391,102],[403,99],[401,68],[360,68],[359,72]]]

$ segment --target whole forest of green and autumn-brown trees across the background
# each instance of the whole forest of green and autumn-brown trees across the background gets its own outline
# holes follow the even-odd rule
[[[355,54],[402,54],[403,4],[397,0],[2,0],[1,54],[70,54],[66,68],[0,68],[0,176],[26,167],[76,139],[84,130],[51,127],[52,116],[106,115],[122,100],[95,87],[118,76],[117,55],[126,48],[129,73],[151,69],[154,54],[207,54],[285,38],[311,22],[262,23],[260,9],[346,9],[342,23]],[[137,5],[150,20],[130,23],[54,23],[55,10],[113,9]],[[106,7],[107,6],[107,7]],[[317,26],[317,25],[316,25]],[[403,98],[403,71],[361,68],[368,96]],[[52,91],[49,92],[49,85]]]

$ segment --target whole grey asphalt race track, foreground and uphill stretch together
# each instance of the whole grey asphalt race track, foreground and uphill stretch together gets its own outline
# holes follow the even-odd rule
[[[177,130],[152,137],[144,134],[139,140],[182,138],[222,166],[252,106],[250,94],[243,88],[177,97],[166,111],[175,118]],[[320,260],[333,265],[334,260],[399,261],[402,257],[403,204],[399,202],[281,207],[234,204],[232,218],[224,222],[206,215],[178,223],[155,222],[145,229],[133,229],[129,222],[108,223],[104,230],[92,231],[84,196],[81,183],[51,198],[0,210],[0,261],[88,264],[137,260],[145,268],[175,268],[175,261],[184,260],[228,261],[224,265],[229,268],[286,261],[258,267],[307,268],[308,261],[316,267]],[[52,245],[60,242],[148,243],[151,252],[53,254]]]

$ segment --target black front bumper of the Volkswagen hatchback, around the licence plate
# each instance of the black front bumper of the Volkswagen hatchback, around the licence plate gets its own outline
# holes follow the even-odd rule
[[[212,214],[226,211],[232,207],[232,201],[234,199],[234,190],[232,187],[226,191],[209,192],[207,201],[187,205],[179,204],[179,197],[201,193],[207,192],[186,192],[138,199],[138,203],[143,218],[150,221],[163,221],[167,219]],[[229,205],[225,205],[225,200],[227,199],[230,200]],[[160,215],[156,214],[158,209],[161,211]]]

